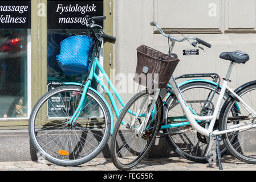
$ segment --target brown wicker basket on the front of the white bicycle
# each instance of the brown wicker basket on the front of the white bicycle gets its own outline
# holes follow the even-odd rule
[[[179,59],[148,46],[137,48],[137,68],[133,80],[147,88],[165,88]]]

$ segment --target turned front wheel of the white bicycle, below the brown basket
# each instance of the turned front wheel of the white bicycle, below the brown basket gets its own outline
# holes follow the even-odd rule
[[[136,129],[141,126],[141,121],[145,119],[145,115],[147,115],[149,107],[151,107],[151,97],[152,94],[148,92],[136,94],[125,105],[117,119],[111,139],[111,158],[113,164],[121,170],[135,167],[155,142],[156,134],[159,130],[159,122],[162,118],[162,101],[160,97],[156,100],[144,134],[139,136],[136,133]],[[139,107],[144,99],[147,99],[147,102],[142,105],[143,108],[139,112]],[[139,114],[139,117],[136,119],[135,125],[132,126],[136,113]]]

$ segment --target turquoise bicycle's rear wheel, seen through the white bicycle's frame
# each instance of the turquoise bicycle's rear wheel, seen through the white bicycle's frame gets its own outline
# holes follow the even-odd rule
[[[181,92],[184,96],[187,104],[189,105],[192,113],[197,115],[212,115],[217,103],[218,94],[220,94],[220,89],[217,89],[216,94],[213,97],[212,102],[209,103],[208,109],[204,109],[203,106],[205,101],[210,99],[212,96],[216,85],[205,83],[205,82],[192,82],[181,86]],[[224,99],[221,105],[224,104],[227,99],[227,94],[224,95]],[[206,105],[207,105],[206,104]],[[204,110],[203,110],[204,109]],[[235,114],[235,112],[234,112]],[[218,113],[219,115],[219,113]],[[216,124],[214,125],[214,130],[218,127],[218,115]],[[189,122],[186,118],[181,105],[178,103],[176,96],[172,94],[166,101],[164,106],[164,117],[163,125],[178,125],[183,122]],[[197,121],[202,127],[208,127],[208,121]],[[206,137],[196,130],[192,126],[184,125],[179,127],[168,127],[163,129],[163,133],[166,135],[166,140],[170,144],[177,154],[185,159],[191,160],[193,162],[206,163],[206,150],[209,144],[209,137]],[[216,143],[216,140],[214,140]],[[213,145],[213,150],[216,148],[216,144]],[[220,145],[221,156],[226,154],[226,147],[223,142]]]

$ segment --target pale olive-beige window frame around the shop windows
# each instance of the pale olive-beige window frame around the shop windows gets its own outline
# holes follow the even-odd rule
[[[38,16],[38,10],[45,5],[45,15]],[[104,0],[104,32],[113,35],[113,0]],[[42,4],[41,4],[42,5]],[[27,129],[32,107],[47,92],[47,0],[31,0],[31,49],[27,57],[27,117],[1,118],[0,129]],[[29,51],[31,52],[29,55]],[[109,75],[109,59],[113,60],[113,45],[104,43],[104,69]]]

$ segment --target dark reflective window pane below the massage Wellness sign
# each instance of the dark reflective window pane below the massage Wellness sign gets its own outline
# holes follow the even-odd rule
[[[0,29],[0,118],[27,117],[27,29]]]

